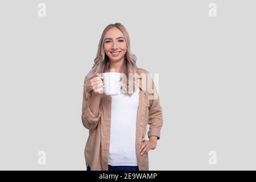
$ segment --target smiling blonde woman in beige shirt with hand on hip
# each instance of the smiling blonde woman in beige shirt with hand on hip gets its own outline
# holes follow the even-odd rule
[[[127,79],[126,90],[133,88],[128,89],[131,92],[117,96],[102,93],[101,73],[113,70],[127,76],[137,75]],[[150,99],[147,87],[143,86],[147,73],[137,68],[125,27],[121,23],[109,24],[101,35],[93,68],[84,81],[81,118],[89,130],[85,146],[88,171],[148,170],[148,151],[154,150],[160,139],[163,118],[159,98]],[[147,124],[149,140],[144,139]]]

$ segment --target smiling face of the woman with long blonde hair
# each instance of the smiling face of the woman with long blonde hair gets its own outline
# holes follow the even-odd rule
[[[116,27],[110,28],[105,35],[104,51],[109,61],[116,63],[125,60],[127,45],[123,33]]]

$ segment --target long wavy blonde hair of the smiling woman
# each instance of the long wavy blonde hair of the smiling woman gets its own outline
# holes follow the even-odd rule
[[[92,69],[89,71],[88,75],[85,77],[85,92],[86,92],[86,97],[90,99],[92,96],[92,88],[90,86],[90,79],[96,76],[96,73],[104,73],[106,69],[109,68],[109,57],[106,55],[104,51],[104,38],[106,35],[106,32],[110,29],[116,27],[118,28],[122,33],[123,36],[126,40],[126,45],[127,45],[127,51],[125,53],[125,64],[123,64],[123,68],[121,68],[122,73],[124,73],[127,77],[127,90],[129,88],[133,88],[132,92],[125,93],[126,95],[131,96],[135,92],[135,86],[136,86],[136,78],[133,77],[133,79],[128,79],[129,73],[136,73],[137,72],[137,64],[136,60],[137,57],[131,53],[130,49],[130,37],[129,34],[126,30],[126,28],[121,24],[121,23],[114,23],[114,24],[109,24],[104,31],[102,32],[100,43],[98,44],[98,51],[97,51],[97,56],[94,59],[94,64]],[[130,89],[129,89],[130,90]]]

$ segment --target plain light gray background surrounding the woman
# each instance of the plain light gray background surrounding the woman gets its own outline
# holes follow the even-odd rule
[[[150,170],[256,169],[255,17],[255,1],[1,0],[0,169],[85,170],[82,84],[115,22],[138,67],[159,73]]]

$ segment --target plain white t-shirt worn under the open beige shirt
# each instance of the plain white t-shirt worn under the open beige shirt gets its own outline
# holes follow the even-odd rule
[[[135,152],[136,123],[139,106],[138,89],[131,96],[112,96],[108,164],[138,166]]]

